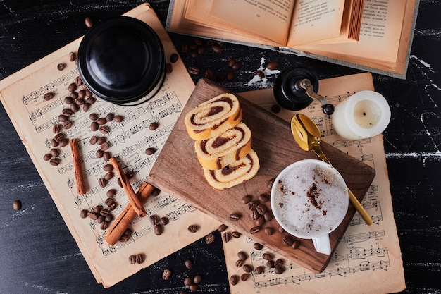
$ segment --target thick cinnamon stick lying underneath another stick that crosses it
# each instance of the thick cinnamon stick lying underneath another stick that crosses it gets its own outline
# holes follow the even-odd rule
[[[153,190],[153,185],[144,182],[136,193],[139,202],[144,204]],[[112,223],[111,227],[108,228],[106,235],[104,235],[104,240],[106,240],[106,242],[111,246],[115,245],[125,230],[127,230],[127,228],[130,226],[133,219],[135,219],[135,216],[137,216],[137,213],[135,212],[135,209],[133,209],[132,204],[129,202],[123,209],[123,212],[121,212],[118,218]]]

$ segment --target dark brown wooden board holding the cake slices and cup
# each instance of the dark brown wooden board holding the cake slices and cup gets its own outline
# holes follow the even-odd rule
[[[251,235],[249,230],[255,224],[249,216],[248,206],[241,201],[245,195],[254,195],[254,199],[257,199],[263,193],[269,194],[268,182],[292,162],[301,159],[318,159],[313,152],[306,152],[297,146],[289,123],[236,95],[243,111],[242,121],[251,130],[253,149],[259,156],[259,172],[251,180],[222,191],[211,188],[206,182],[202,167],[194,153],[194,140],[185,130],[184,116],[201,102],[226,92],[230,91],[211,80],[202,79],[197,83],[156,164],[150,171],[149,182],[170,195],[181,197],[193,207],[225,223],[230,229],[249,236],[306,269],[316,273],[323,271],[332,253],[323,255],[316,252],[311,240],[298,239],[300,246],[297,249],[283,245],[281,242],[283,233],[278,232],[278,223],[275,219],[263,225],[263,228],[275,228],[276,232],[273,235],[267,235],[263,229]],[[326,142],[322,143],[322,148],[354,195],[362,200],[375,176],[374,169]],[[269,202],[266,202],[266,207],[271,209]],[[232,213],[240,213],[242,217],[239,221],[230,221],[229,216]],[[355,209],[349,203],[347,216],[330,234],[333,252],[354,214]]]

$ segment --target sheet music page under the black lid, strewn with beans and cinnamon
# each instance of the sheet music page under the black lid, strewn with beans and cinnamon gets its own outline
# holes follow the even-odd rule
[[[142,4],[126,15],[143,20],[156,31],[163,42],[167,62],[172,53],[177,53],[159,18],[148,4]],[[48,161],[43,160],[43,157],[52,148],[51,139],[54,138],[52,126],[58,123],[58,115],[66,107],[63,99],[69,95],[68,85],[75,82],[78,76],[77,67],[75,63],[69,61],[68,54],[70,51],[76,52],[79,44],[80,39],[77,39],[2,80],[1,102],[94,277],[98,283],[109,287],[199,240],[214,231],[219,223],[164,192],[156,197],[149,197],[144,204],[149,215],[167,216],[170,221],[164,226],[163,234],[159,236],[154,234],[149,216],[142,219],[136,217],[131,225],[132,238],[127,243],[118,242],[110,246],[104,241],[106,231],[99,228],[97,221],[80,218],[82,209],[90,210],[96,205],[106,207],[104,204],[107,198],[106,191],[111,188],[118,191],[115,196],[118,205],[112,212],[115,218],[128,204],[128,197],[117,183],[118,176],[113,176],[104,188],[99,185],[98,179],[105,174],[103,166],[106,162],[97,158],[96,151],[99,147],[89,143],[90,137],[97,135],[107,138],[107,142],[111,145],[109,151],[112,156],[118,158],[125,172],[134,173],[135,176],[130,183],[137,191],[139,186],[147,181],[151,166],[194,90],[194,82],[179,60],[173,63],[172,73],[167,73],[160,92],[149,102],[139,106],[123,107],[104,102],[97,97],[97,102],[92,104],[87,112],[80,110],[75,113],[70,119],[73,121],[72,127],[62,131],[66,137],[77,138],[79,141],[87,194],[77,195],[70,146],[57,147],[61,151],[58,166],[51,166]],[[58,63],[66,63],[66,68],[58,71]],[[47,92],[54,92],[55,97],[46,101],[43,96]],[[89,114],[92,113],[99,114],[100,117],[106,114],[118,114],[124,119],[122,123],[115,121],[107,123],[110,132],[103,135],[90,129],[92,121],[89,119]],[[152,122],[158,122],[159,128],[149,130]],[[147,155],[144,151],[148,147],[154,147],[157,151]],[[187,231],[186,228],[190,224],[199,226],[197,233]],[[173,242],[170,242],[170,236],[173,236]],[[144,255],[144,262],[130,264],[128,257],[138,253]]]

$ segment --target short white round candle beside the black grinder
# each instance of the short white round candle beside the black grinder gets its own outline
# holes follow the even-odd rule
[[[389,124],[390,107],[378,92],[356,92],[335,106],[331,119],[335,132],[344,139],[374,137]]]

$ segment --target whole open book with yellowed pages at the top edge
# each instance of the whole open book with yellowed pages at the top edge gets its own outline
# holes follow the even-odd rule
[[[419,0],[171,0],[170,32],[406,78]]]

